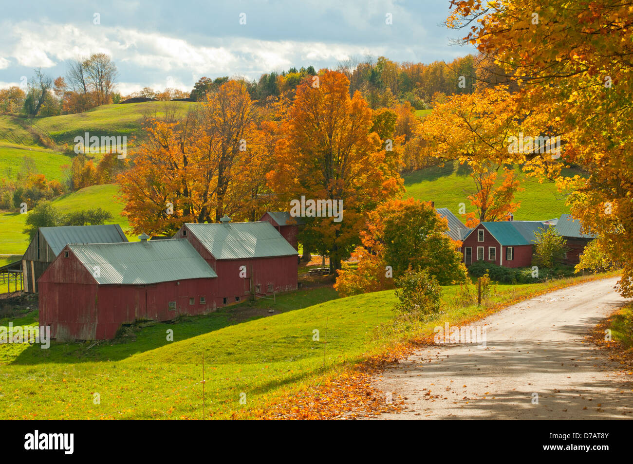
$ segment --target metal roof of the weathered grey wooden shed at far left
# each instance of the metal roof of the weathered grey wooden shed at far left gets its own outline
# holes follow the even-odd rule
[[[60,254],[61,250],[69,243],[127,242],[127,237],[118,224],[40,227],[39,231],[55,255]]]

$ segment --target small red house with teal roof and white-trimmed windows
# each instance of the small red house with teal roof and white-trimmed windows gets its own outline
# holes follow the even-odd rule
[[[487,261],[510,268],[529,267],[534,253],[534,234],[548,222],[481,222],[463,239],[464,263]]]

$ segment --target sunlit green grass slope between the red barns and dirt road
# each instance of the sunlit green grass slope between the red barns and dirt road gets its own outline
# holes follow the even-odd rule
[[[482,308],[454,307],[459,287],[443,287],[444,313],[426,322],[422,332],[445,320],[460,323],[501,304],[595,278],[498,284]],[[304,301],[300,292],[285,299],[289,306],[298,301]],[[227,313],[218,312],[147,327],[122,348],[103,342],[88,350],[86,344],[88,354],[77,353],[77,344],[20,347],[17,355],[1,356],[0,418],[202,418],[203,355],[206,418],[259,417],[268,405],[422,334],[421,327],[410,333],[389,330],[394,303],[394,292],[382,291],[225,326],[230,323],[223,319]],[[167,328],[173,328],[173,342],[166,341]],[[93,403],[95,393],[100,404]]]

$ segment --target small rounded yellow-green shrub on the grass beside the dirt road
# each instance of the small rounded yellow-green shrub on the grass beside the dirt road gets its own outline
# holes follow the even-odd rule
[[[420,317],[439,312],[442,288],[427,270],[409,268],[396,280],[395,310],[399,313],[417,313]]]

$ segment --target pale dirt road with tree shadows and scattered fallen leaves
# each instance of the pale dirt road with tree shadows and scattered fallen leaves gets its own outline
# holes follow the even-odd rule
[[[473,323],[486,324],[486,348],[443,344],[401,360],[375,384],[406,411],[379,418],[633,418],[633,375],[584,339],[626,301],[615,282],[567,287]]]

